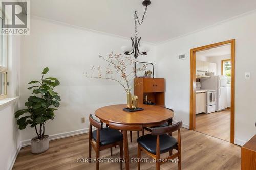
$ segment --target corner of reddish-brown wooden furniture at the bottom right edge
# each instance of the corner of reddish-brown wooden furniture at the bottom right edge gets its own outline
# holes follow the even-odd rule
[[[256,169],[256,135],[241,149],[241,169]]]

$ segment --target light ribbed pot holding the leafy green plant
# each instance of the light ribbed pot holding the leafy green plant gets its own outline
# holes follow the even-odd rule
[[[42,139],[34,137],[31,139],[31,152],[33,154],[40,154],[49,149],[49,136],[45,135]]]

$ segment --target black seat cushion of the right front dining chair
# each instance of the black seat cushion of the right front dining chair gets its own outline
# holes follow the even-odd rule
[[[168,152],[177,146],[177,140],[169,135],[159,135],[160,153]],[[157,136],[147,134],[137,139],[137,142],[148,152],[156,155]]]

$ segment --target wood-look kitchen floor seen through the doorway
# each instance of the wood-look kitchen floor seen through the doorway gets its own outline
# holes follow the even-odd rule
[[[230,109],[197,114],[195,130],[230,142]]]

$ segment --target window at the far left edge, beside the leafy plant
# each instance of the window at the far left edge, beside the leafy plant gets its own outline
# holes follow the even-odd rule
[[[3,20],[0,22],[2,29]],[[0,33],[0,98],[7,96],[7,36]]]

